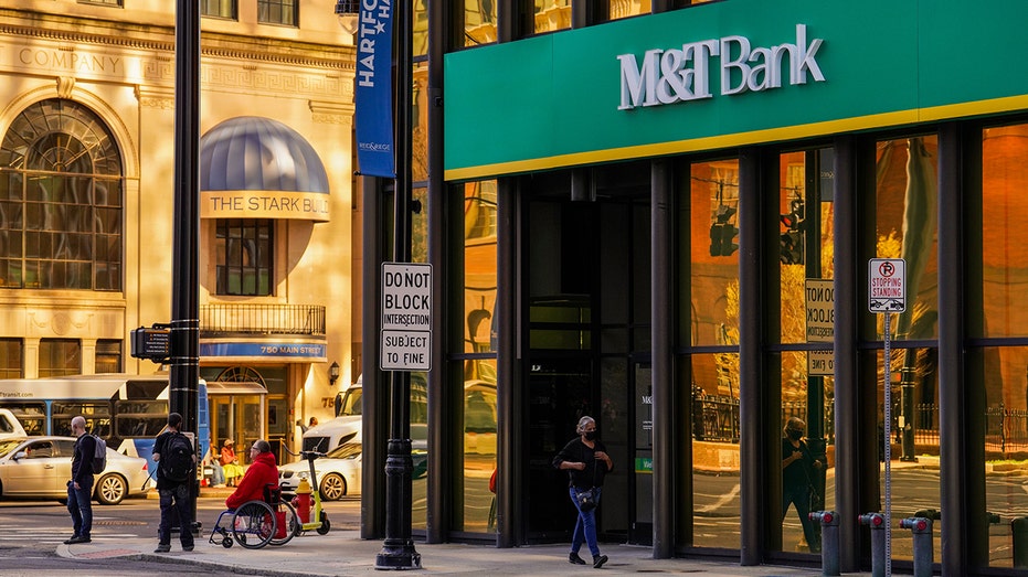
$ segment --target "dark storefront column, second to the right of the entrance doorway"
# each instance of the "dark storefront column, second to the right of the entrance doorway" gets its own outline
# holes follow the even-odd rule
[[[742,522],[739,535],[741,565],[763,560],[764,502],[763,373],[761,312],[761,151],[739,154],[739,469]],[[655,319],[656,320],[656,319]]]

